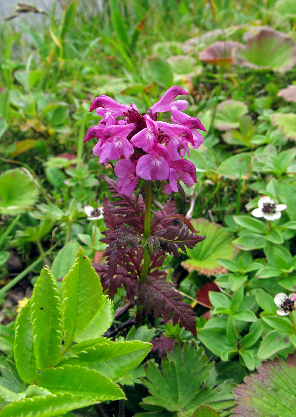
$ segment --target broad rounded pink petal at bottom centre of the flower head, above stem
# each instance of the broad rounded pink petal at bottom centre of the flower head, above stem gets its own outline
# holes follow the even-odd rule
[[[165,158],[159,155],[143,155],[138,160],[136,173],[147,181],[166,180],[170,167]]]

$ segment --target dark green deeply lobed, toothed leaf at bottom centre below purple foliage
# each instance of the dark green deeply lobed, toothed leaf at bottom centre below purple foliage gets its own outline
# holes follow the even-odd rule
[[[163,415],[164,410],[191,416],[201,404],[209,404],[217,411],[233,404],[231,383],[215,387],[213,362],[208,363],[203,349],[186,342],[183,349],[175,343],[173,356],[161,361],[162,373],[154,362],[145,365],[147,380],[143,383],[151,396],[143,399],[143,408],[153,411],[144,415]],[[141,414],[139,414],[141,415]]]

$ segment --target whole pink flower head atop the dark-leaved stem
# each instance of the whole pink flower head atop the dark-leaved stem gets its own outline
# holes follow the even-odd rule
[[[139,114],[135,104],[126,106],[107,95],[93,100],[90,111],[97,109],[102,120],[98,126],[88,129],[84,142],[91,138],[99,141],[93,154],[99,163],[115,164],[118,192],[130,196],[138,178],[147,181],[169,180],[164,192],[178,191],[181,179],[187,187],[196,183],[196,168],[183,159],[189,155],[189,143],[193,148],[203,142],[198,129],[206,131],[201,121],[183,113],[187,100],[175,100],[178,95],[188,93],[181,87],[169,88],[161,99],[153,104],[148,113]],[[171,112],[171,121],[157,121],[159,112]]]

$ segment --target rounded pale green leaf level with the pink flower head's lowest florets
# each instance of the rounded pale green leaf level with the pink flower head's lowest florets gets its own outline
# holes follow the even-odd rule
[[[252,156],[250,152],[242,152],[225,159],[216,169],[223,177],[248,179],[252,175]]]

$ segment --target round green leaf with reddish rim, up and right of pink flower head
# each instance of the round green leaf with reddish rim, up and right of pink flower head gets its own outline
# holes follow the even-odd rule
[[[239,118],[246,113],[248,106],[242,101],[224,100],[217,106],[215,127],[221,131],[236,129],[239,127]]]

